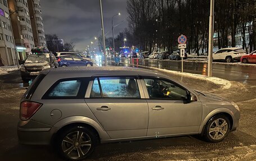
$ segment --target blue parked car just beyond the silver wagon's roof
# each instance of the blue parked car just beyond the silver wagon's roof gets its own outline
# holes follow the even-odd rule
[[[93,66],[92,61],[88,61],[77,55],[60,56],[58,57],[58,64],[60,67]]]

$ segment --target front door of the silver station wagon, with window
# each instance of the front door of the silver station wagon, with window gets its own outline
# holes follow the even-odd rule
[[[202,119],[199,100],[189,102],[188,91],[171,80],[159,77],[143,77],[143,80],[149,107],[147,136],[198,133]]]

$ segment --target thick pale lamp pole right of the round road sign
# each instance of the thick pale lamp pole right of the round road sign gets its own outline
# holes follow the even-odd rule
[[[210,18],[209,18],[208,77],[212,77],[213,32],[214,32],[214,0],[211,0],[211,9],[210,9]]]

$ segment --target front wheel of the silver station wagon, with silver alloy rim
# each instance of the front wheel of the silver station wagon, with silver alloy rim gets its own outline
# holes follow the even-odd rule
[[[230,132],[230,121],[223,114],[215,115],[205,125],[204,139],[208,142],[220,142]]]

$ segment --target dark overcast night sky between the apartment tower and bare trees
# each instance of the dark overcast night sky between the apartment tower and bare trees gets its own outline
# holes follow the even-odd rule
[[[104,29],[112,37],[112,16],[114,25],[128,15],[126,0],[102,0]],[[98,0],[41,0],[45,34],[57,34],[65,42],[73,42],[75,49],[84,50],[101,29]],[[127,27],[127,21],[115,28],[115,35]],[[99,31],[99,34],[101,32]]]

